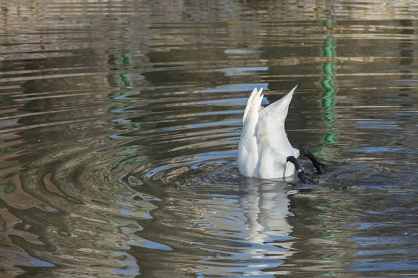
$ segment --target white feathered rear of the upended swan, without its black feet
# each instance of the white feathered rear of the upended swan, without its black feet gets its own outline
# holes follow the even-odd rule
[[[247,101],[242,118],[242,134],[238,147],[240,174],[258,179],[277,179],[295,174],[295,166],[287,162],[288,156],[299,157],[298,149],[292,147],[284,121],[293,92],[263,108],[263,88],[255,88]]]

